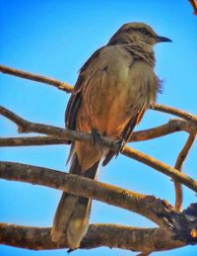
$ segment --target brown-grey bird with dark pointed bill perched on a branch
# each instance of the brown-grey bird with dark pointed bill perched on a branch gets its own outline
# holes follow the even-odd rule
[[[96,50],[79,72],[69,99],[66,128],[93,134],[93,141],[71,142],[70,173],[97,179],[99,162],[106,165],[117,154],[99,143],[100,135],[129,141],[146,110],[162,90],[154,71],[156,43],[171,42],[144,23],[124,24],[105,45]],[[63,192],[53,219],[51,238],[80,247],[90,221],[92,199]]]

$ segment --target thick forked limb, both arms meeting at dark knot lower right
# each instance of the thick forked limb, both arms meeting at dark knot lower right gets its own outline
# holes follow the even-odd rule
[[[93,198],[142,214],[160,225],[160,228],[92,225],[82,242],[82,248],[111,246],[150,252],[197,243],[197,237],[193,235],[197,225],[197,216],[193,213],[196,213],[197,204],[193,204],[183,213],[178,213],[167,202],[153,196],[123,190],[78,175],[12,162],[0,163],[0,177]],[[1,224],[0,230],[0,243],[3,244],[33,249],[51,249],[57,246],[51,242],[49,229],[46,228]],[[130,235],[133,235],[132,239]],[[22,243],[22,239],[26,242]]]

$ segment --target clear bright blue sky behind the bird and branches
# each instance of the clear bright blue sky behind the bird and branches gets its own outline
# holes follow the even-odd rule
[[[160,104],[196,114],[197,17],[187,0],[119,1],[10,1],[0,0],[0,63],[13,68],[53,77],[75,84],[78,70],[86,59],[124,23],[145,22],[173,43],[155,46],[156,73],[164,80]],[[64,128],[64,111],[69,95],[51,86],[0,74],[0,105],[24,119]],[[148,111],[136,129],[166,123],[169,115]],[[17,136],[16,126],[0,117],[0,136]],[[132,143],[173,166],[187,134],[178,132],[165,137]],[[183,171],[197,179],[197,146],[193,146]],[[33,164],[56,170],[65,166],[68,147],[0,148],[0,160]],[[99,181],[154,195],[174,203],[173,184],[161,173],[119,155],[99,172]],[[0,221],[33,226],[51,226],[60,192],[40,186],[0,181]],[[196,196],[184,188],[183,208],[196,202]],[[148,219],[94,202],[91,222],[119,223],[151,227]],[[63,256],[65,250],[31,251],[0,246],[1,256]],[[153,255],[196,255],[196,246],[187,246]],[[135,255],[130,251],[97,248],[77,250],[72,255]]]

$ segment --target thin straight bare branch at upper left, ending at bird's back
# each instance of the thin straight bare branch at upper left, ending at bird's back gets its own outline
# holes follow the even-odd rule
[[[56,87],[56,88],[58,88],[58,89],[60,89],[64,92],[67,92],[67,93],[72,92],[72,89],[73,89],[73,87],[71,85],[69,85],[65,82],[58,81],[58,80],[53,79],[53,78],[48,78],[48,77],[45,77],[45,76],[42,76],[42,75],[37,75],[37,74],[25,72],[23,70],[3,66],[3,65],[0,65],[0,72],[10,74],[10,75],[15,75],[15,76],[18,76],[18,77],[21,77],[21,78],[33,80],[33,81],[44,83],[44,84],[49,84],[49,85],[52,85],[52,86],[54,86],[54,87]]]

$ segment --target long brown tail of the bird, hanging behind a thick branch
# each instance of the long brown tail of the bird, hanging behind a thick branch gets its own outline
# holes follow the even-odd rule
[[[95,180],[98,167],[99,161],[86,172],[83,171],[82,174],[75,153],[72,157],[70,173]],[[53,219],[52,240],[59,245],[67,242],[71,249],[78,248],[89,226],[91,205],[91,199],[63,192]]]

